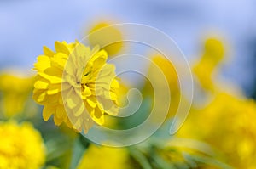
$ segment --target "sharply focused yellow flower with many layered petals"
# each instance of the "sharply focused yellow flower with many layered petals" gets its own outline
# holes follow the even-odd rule
[[[33,99],[44,105],[44,121],[54,115],[55,125],[87,132],[104,115],[118,114],[116,92],[119,82],[114,65],[107,64],[108,54],[82,43],[55,42],[55,52],[44,47],[34,70],[38,71]]]

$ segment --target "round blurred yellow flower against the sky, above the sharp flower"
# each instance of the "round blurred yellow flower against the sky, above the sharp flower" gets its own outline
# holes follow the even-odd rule
[[[122,42],[123,36],[121,31],[107,22],[100,22],[94,25],[90,29],[89,35],[90,45],[100,45],[102,49],[108,52],[109,56],[118,54],[123,48],[124,44]]]

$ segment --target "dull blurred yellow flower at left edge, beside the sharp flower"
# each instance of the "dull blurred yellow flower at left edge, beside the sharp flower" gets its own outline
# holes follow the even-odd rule
[[[26,99],[32,92],[33,77],[19,77],[8,73],[0,75],[1,110],[6,117],[24,110]]]

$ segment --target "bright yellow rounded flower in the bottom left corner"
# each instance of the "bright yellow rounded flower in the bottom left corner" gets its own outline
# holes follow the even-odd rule
[[[44,165],[44,161],[43,139],[30,123],[0,123],[1,169],[37,169]]]

